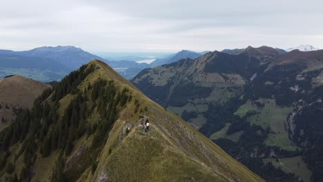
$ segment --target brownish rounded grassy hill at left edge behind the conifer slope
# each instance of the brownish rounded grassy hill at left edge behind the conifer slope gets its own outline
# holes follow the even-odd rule
[[[22,110],[30,109],[49,85],[19,75],[0,79],[0,131],[10,125]]]

